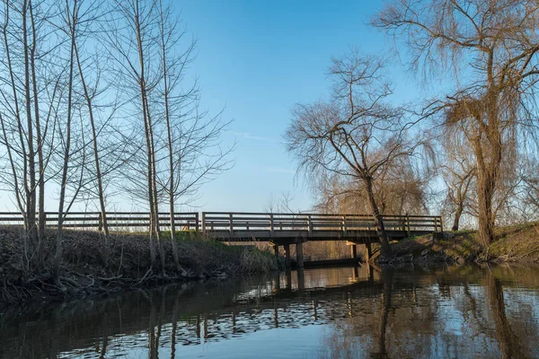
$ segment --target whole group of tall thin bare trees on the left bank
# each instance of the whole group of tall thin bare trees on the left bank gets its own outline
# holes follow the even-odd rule
[[[203,183],[230,167],[232,148],[220,140],[229,121],[200,106],[197,78],[189,74],[197,39],[173,5],[0,4],[0,181],[24,216],[30,270],[40,263],[45,198],[57,197],[58,269],[62,223],[77,203],[101,213],[106,260],[107,209],[117,195],[149,209],[152,264],[159,257],[163,268],[159,211],[166,206],[173,218]]]

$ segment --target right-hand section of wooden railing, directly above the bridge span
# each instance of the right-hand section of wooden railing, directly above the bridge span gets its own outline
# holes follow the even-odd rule
[[[384,215],[387,231],[443,232],[437,215]],[[202,232],[243,231],[375,231],[371,215],[203,212]]]

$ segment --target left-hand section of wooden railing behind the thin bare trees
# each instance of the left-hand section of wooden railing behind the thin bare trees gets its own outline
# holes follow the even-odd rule
[[[107,212],[107,224],[112,231],[143,231],[149,227],[149,212]],[[159,213],[159,226],[162,229],[170,229],[171,217],[169,213]],[[58,214],[56,212],[45,213],[45,225],[57,227]],[[69,212],[65,215],[62,223],[63,228],[74,229],[101,229],[102,214],[100,212]],[[180,231],[199,231],[199,213],[176,213],[174,223]],[[24,219],[21,213],[0,212],[0,225],[23,225]]]

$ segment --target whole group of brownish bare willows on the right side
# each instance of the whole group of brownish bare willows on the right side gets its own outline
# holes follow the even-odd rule
[[[399,105],[386,59],[333,59],[328,96],[296,105],[285,135],[319,208],[372,214],[384,255],[382,215],[471,218],[484,246],[496,225],[537,219],[539,4],[393,1],[372,25],[436,95]]]

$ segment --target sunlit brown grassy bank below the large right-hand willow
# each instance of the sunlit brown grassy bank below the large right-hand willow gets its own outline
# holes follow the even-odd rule
[[[381,260],[376,252],[372,260],[386,264],[539,263],[539,223],[499,227],[495,235],[497,240],[486,248],[478,241],[476,231],[412,237],[392,243],[393,258]]]

